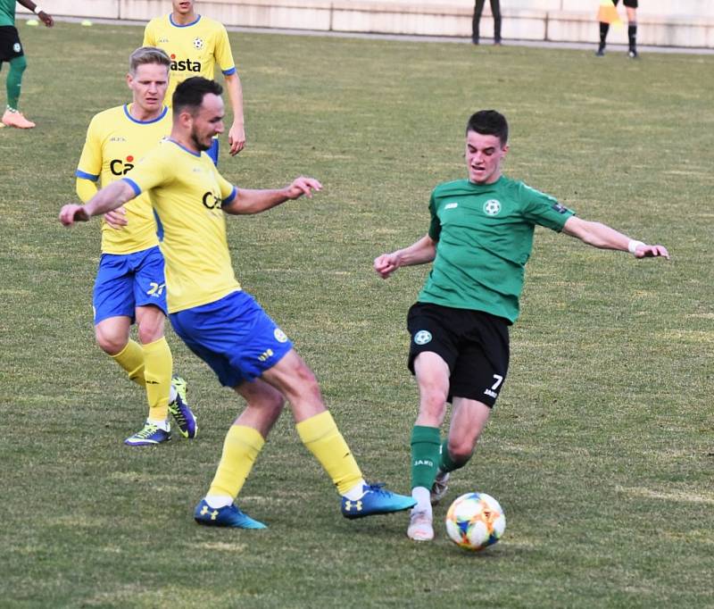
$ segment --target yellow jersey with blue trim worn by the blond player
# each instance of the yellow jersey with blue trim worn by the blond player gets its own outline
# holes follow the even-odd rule
[[[170,132],[171,111],[166,106],[152,121],[134,119],[129,104],[98,113],[89,123],[75,175],[78,179],[100,182],[104,188],[132,171]],[[104,254],[133,254],[159,243],[148,196],[137,197],[125,208],[128,224],[123,229],[112,229],[102,221]]]

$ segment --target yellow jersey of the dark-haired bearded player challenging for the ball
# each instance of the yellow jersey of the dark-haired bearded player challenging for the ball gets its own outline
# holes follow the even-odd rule
[[[237,189],[208,154],[166,139],[124,179],[137,196],[148,194],[154,206],[163,235],[169,313],[215,302],[241,288],[221,209]]]

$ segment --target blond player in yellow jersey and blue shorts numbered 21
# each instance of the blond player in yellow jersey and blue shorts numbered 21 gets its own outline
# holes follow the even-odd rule
[[[127,83],[132,103],[98,113],[89,123],[76,171],[77,194],[88,201],[123,178],[171,130],[163,103],[170,59],[159,48],[143,46],[129,57]],[[168,413],[185,438],[195,438],[195,416],[186,403],[186,382],[171,382],[171,352],[163,336],[166,290],[163,256],[148,196],[139,196],[102,223],[102,257],[94,288],[95,337],[105,353],[146,390],[149,414],[144,427],[125,440],[129,446],[170,439]],[[129,338],[137,322],[139,343]]]

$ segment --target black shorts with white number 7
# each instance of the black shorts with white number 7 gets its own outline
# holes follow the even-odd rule
[[[449,402],[466,397],[493,406],[508,372],[508,326],[502,317],[482,311],[412,304],[407,315],[409,370],[414,373],[420,353],[436,353],[451,371]]]

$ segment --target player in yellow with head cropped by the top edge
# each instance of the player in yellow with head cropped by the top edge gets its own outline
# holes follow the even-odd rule
[[[218,21],[195,13],[194,0],[172,0],[173,10],[156,17],[146,25],[144,45],[158,46],[171,58],[171,77],[167,99],[171,99],[179,82],[192,76],[213,79],[215,67],[223,72],[228,90],[233,124],[228,129],[230,154],[245,146],[243,88],[230,50],[228,32]],[[213,139],[208,155],[218,164],[218,139]]]

